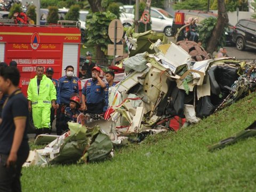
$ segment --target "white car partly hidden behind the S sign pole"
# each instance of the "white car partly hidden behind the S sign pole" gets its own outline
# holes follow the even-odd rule
[[[134,20],[133,5],[123,5],[120,7],[120,9],[123,13],[125,13],[127,18]],[[168,37],[172,35],[173,15],[161,8],[151,7],[150,20],[152,22],[152,30],[163,32]]]

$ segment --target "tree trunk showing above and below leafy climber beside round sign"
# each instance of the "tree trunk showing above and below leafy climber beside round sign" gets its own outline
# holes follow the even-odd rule
[[[105,8],[101,6],[101,0],[88,0],[91,10],[93,13],[95,12],[104,12]],[[105,54],[103,51],[100,50],[100,45],[95,45],[96,55],[95,59],[100,61],[100,59],[105,59]]]

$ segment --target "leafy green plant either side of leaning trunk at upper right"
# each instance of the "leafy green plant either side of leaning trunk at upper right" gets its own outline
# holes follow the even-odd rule
[[[198,26],[199,39],[202,41],[202,46],[204,49],[207,47],[207,43],[209,42],[210,37],[212,36],[212,31],[214,27],[217,25],[217,18],[209,17],[201,21],[201,26]],[[222,31],[222,35],[220,41],[218,42],[219,47],[223,47],[226,44],[226,36],[225,30]]]

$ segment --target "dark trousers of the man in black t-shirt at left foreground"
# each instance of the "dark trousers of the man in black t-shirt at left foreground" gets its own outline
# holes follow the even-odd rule
[[[0,192],[21,191],[21,167],[28,158],[28,154],[18,155],[15,165],[6,167],[9,155],[0,154]]]

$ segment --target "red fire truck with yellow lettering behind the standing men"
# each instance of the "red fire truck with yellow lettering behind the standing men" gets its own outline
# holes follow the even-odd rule
[[[77,27],[0,24],[0,61],[16,61],[22,92],[27,95],[36,66],[52,67],[53,78],[65,75],[68,65],[79,70],[81,31]]]

